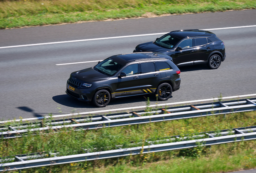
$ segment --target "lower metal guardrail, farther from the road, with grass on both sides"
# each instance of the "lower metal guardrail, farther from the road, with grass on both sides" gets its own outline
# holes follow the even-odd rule
[[[239,142],[239,141],[248,141],[256,139],[256,126],[252,127],[242,127],[242,128],[235,128],[233,131],[223,130],[219,133],[212,133],[211,132],[204,132],[204,134],[194,135],[192,137],[182,137],[174,136],[173,138],[168,139],[160,139],[159,141],[174,141],[186,140],[193,138],[194,140],[189,141],[180,141],[180,142],[173,142],[173,143],[164,143],[164,144],[157,144],[154,145],[154,141],[147,141],[150,145],[143,146],[143,147],[131,147],[126,149],[116,149],[110,151],[100,151],[100,152],[93,152],[93,153],[85,153],[85,154],[78,154],[78,155],[69,155],[69,156],[61,156],[57,157],[58,153],[51,153],[54,157],[51,158],[44,158],[38,159],[40,157],[44,157],[46,154],[43,153],[41,155],[32,155],[32,156],[13,156],[12,159],[1,159],[0,161],[14,161],[15,159],[18,160],[12,163],[2,163],[0,164],[0,171],[11,171],[17,169],[27,169],[33,167],[43,167],[43,166],[50,166],[50,165],[59,165],[59,164],[66,164],[66,163],[74,163],[74,162],[81,162],[81,161],[91,161],[97,159],[108,159],[114,157],[124,157],[130,155],[138,155],[141,153],[153,153],[153,152],[160,152],[160,151],[170,151],[176,149],[186,149],[197,147],[198,145],[209,146],[209,145],[217,145],[223,143],[231,143],[231,142]],[[232,134],[232,135],[231,135]],[[235,134],[235,135],[233,135]],[[208,136],[208,138],[204,139],[196,139],[200,137]],[[219,137],[215,137],[219,136]],[[26,159],[34,159],[34,160],[26,160]]]

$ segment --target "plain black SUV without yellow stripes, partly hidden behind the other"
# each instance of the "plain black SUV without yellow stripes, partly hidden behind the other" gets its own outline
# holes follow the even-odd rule
[[[215,34],[206,30],[178,30],[136,46],[133,52],[161,52],[172,57],[177,66],[207,63],[216,69],[225,60],[225,46]]]

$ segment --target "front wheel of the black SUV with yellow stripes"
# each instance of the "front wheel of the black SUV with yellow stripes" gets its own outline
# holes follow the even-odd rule
[[[107,90],[99,90],[93,96],[92,101],[97,107],[105,107],[110,101],[110,94]]]

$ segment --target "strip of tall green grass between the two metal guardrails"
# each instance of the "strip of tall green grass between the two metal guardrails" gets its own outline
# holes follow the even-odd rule
[[[50,130],[45,134],[43,132],[37,132],[37,134],[28,133],[27,136],[15,139],[0,138],[0,156],[45,151],[58,151],[60,153],[58,156],[74,155],[85,153],[85,149],[95,152],[118,149],[120,146],[122,148],[135,147],[141,146],[141,140],[145,139],[155,141],[159,137],[219,131],[221,129],[252,125],[256,125],[255,111],[229,114],[226,117],[216,115],[87,131],[75,131],[74,129],[66,128],[59,131]],[[134,143],[131,145],[130,141],[134,141]],[[149,144],[144,143],[143,145]],[[190,153],[190,151],[185,151],[185,153]],[[159,157],[167,157],[168,155],[168,152],[155,153],[155,156]],[[192,156],[192,154],[189,155]]]

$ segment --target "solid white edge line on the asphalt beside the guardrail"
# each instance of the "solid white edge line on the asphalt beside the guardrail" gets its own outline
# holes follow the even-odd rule
[[[252,96],[256,96],[256,94],[223,97],[222,99],[234,99],[234,98],[239,99],[241,97],[252,97]],[[185,104],[185,103],[195,103],[195,102],[204,102],[204,101],[216,101],[218,99],[219,98],[202,99],[202,100],[194,100],[194,101],[183,101],[183,102],[176,102],[176,103],[164,103],[164,104],[157,104],[157,106],[169,106],[169,105],[179,105],[179,104]],[[149,105],[149,107],[155,107],[155,106],[156,105]],[[106,112],[113,112],[113,111],[126,111],[126,110],[140,109],[140,108],[146,108],[146,107],[147,106],[139,106],[139,107],[118,108],[118,109],[109,109],[109,110],[91,111],[91,112],[73,113],[73,114],[64,114],[64,115],[53,115],[52,118],[55,118],[55,117],[67,117],[67,116],[74,116],[74,115],[95,114],[95,113],[106,113]],[[40,119],[44,119],[44,118],[50,118],[50,116],[22,119],[22,121],[40,120]],[[21,119],[8,120],[8,121],[0,121],[0,123],[7,123],[7,122],[13,122],[13,121],[21,121]]]

